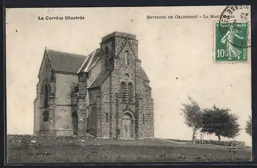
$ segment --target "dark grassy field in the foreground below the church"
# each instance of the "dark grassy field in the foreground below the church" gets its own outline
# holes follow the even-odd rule
[[[97,139],[95,145],[20,146],[7,149],[8,163],[131,162],[131,161],[249,161],[251,149],[172,140]]]

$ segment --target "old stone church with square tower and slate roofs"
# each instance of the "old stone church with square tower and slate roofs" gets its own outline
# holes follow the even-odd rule
[[[138,40],[113,32],[88,56],[45,49],[34,100],[34,134],[154,137],[154,103]]]

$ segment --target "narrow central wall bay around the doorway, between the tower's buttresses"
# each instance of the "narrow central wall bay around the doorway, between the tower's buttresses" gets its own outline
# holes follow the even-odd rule
[[[123,56],[124,52],[128,50],[127,48],[123,48],[123,51],[120,53],[120,57]],[[130,51],[131,53],[132,51]],[[120,57],[116,57],[114,61],[114,71],[112,72],[112,82],[111,82],[111,88],[113,93],[113,117],[115,118],[114,125],[115,127],[112,128],[114,134],[117,134],[117,128],[120,129],[120,136],[123,137],[123,128],[122,128],[122,120],[123,115],[127,112],[130,112],[133,116],[131,116],[132,123],[131,123],[131,138],[136,138],[136,132],[135,132],[135,74],[134,74],[134,65],[130,64],[128,66],[124,66],[122,59]],[[128,55],[129,61],[134,62],[134,56]],[[128,75],[128,76],[127,76]],[[124,82],[124,92],[121,90],[121,83]],[[128,101],[128,83],[132,83],[132,93],[131,93],[131,102]],[[124,99],[123,99],[123,96]],[[131,115],[130,114],[130,115]],[[113,136],[113,138],[117,138],[116,136]]]

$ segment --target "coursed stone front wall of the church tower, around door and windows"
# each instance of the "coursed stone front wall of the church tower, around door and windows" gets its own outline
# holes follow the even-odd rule
[[[138,58],[138,41],[135,35],[115,32],[102,38],[101,49],[105,46],[111,49],[111,59],[113,69],[111,75],[106,79],[101,86],[101,99],[98,98],[98,103],[101,102],[101,110],[98,110],[98,121],[101,120],[101,133],[98,132],[98,137],[117,138],[117,127],[121,130],[122,136],[122,117],[126,111],[130,111],[135,124],[131,126],[135,129],[135,138],[148,138],[154,136],[153,122],[153,99],[151,97],[151,88],[148,85],[149,81],[144,81],[140,78],[141,61]],[[128,53],[128,65],[124,65],[124,54]],[[122,99],[120,92],[121,82],[125,82],[125,93],[129,82],[132,87],[132,101],[128,103],[127,94],[125,100]],[[136,107],[137,104],[137,107]],[[100,112],[101,111],[101,112]],[[100,128],[98,128],[100,131]]]

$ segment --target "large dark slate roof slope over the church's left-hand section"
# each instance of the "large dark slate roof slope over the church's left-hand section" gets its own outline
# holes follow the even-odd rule
[[[54,71],[77,73],[86,56],[54,50],[46,50]]]

